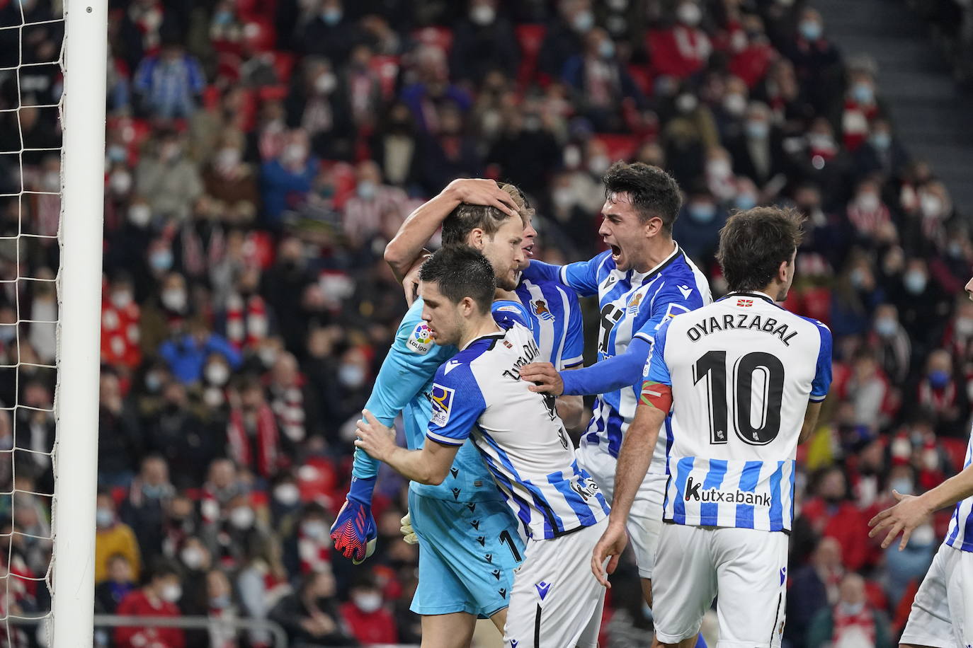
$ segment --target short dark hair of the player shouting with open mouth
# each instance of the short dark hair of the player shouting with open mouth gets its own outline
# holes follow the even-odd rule
[[[614,202],[619,193],[628,193],[639,220],[661,219],[663,231],[671,236],[672,223],[682,207],[682,194],[672,176],[658,166],[620,160],[608,167],[601,182],[608,200]]]

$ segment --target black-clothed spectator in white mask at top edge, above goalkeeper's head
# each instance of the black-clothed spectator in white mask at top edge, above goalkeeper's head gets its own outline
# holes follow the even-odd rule
[[[453,27],[450,70],[457,81],[479,85],[490,70],[517,70],[514,28],[497,10],[496,0],[473,0]]]

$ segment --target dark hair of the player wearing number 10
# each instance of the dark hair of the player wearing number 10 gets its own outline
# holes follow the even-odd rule
[[[804,235],[804,217],[780,207],[754,207],[731,216],[720,230],[716,260],[730,290],[763,290]]]

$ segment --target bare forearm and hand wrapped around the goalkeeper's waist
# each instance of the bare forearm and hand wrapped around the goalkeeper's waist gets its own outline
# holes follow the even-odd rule
[[[450,465],[462,442],[448,444],[426,439],[421,450],[407,450],[395,443],[395,432],[378,423],[368,410],[358,422],[355,446],[372,457],[384,461],[403,477],[420,484],[439,485],[450,474]]]

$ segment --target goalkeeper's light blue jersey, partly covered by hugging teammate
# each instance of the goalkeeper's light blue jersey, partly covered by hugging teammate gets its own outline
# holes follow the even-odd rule
[[[493,302],[493,319],[503,327],[514,322],[526,323],[523,305],[515,301]],[[455,356],[455,347],[441,347],[432,340],[429,327],[422,321],[422,299],[416,299],[399,324],[395,341],[381,363],[381,369],[365,408],[384,426],[391,426],[402,413],[406,445],[411,450],[425,443],[426,427],[432,416],[432,379],[444,362]],[[361,450],[355,450],[351,474],[371,478],[378,474],[378,461]],[[410,483],[416,495],[452,501],[486,501],[502,499],[484,461],[472,443],[464,444],[456,454],[450,475],[442,484]]]

